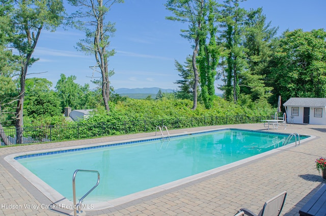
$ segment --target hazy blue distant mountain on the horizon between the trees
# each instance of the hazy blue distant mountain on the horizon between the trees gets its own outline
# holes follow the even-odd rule
[[[151,96],[153,99],[156,97],[157,92],[161,90],[162,93],[173,93],[173,89],[160,89],[160,88],[135,88],[135,89],[115,89],[114,93],[119,94],[121,96],[127,96],[134,99],[144,99],[148,96]]]

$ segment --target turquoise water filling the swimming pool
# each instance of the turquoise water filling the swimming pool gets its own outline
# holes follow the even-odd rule
[[[287,137],[288,134],[282,133],[223,129],[171,137],[170,141],[128,142],[93,149],[23,155],[15,159],[69,200],[72,200],[72,175],[76,169],[99,171],[100,183],[85,200],[100,202],[278,148]],[[291,142],[294,141],[292,138]],[[77,198],[96,181],[94,173],[78,173]]]

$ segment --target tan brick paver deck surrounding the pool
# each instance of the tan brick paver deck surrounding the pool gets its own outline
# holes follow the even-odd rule
[[[171,130],[170,134],[221,127],[264,129],[262,124],[209,126]],[[275,131],[275,130],[272,130]],[[326,126],[288,125],[284,131],[310,134],[308,143],[265,156],[238,167],[174,187],[116,207],[86,211],[86,215],[234,215],[240,207],[258,213],[264,201],[287,191],[281,215],[300,208],[326,183],[315,170],[315,159],[326,156]],[[52,203],[11,167],[4,157],[17,152],[77,146],[154,136],[130,134],[89,140],[0,148],[0,215],[65,215],[71,210],[48,209]]]

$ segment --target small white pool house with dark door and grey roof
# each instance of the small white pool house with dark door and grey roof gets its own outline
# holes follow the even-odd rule
[[[326,98],[291,97],[283,105],[288,123],[326,125]]]

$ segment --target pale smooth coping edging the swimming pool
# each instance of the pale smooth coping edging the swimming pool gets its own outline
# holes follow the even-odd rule
[[[231,128],[231,127],[225,127],[225,128],[217,128],[217,129],[206,129],[206,130],[198,130],[198,131],[192,131],[192,132],[187,132],[183,131],[182,133],[176,133],[173,134],[171,137],[178,137],[178,136],[186,136],[188,134],[196,134],[196,133],[205,133],[205,132],[213,132],[213,131],[221,131],[221,130],[227,130],[227,129],[239,129],[239,130],[249,130],[249,131],[257,131],[257,132],[264,132],[264,133],[282,133],[282,134],[290,134],[290,133],[285,133],[285,132],[276,132],[276,131],[261,131],[261,130],[255,130],[255,129],[245,129],[245,128]],[[311,136],[308,134],[300,134],[302,136],[309,136],[308,138],[302,140],[301,143],[306,143],[309,142],[313,139],[315,139],[315,136]],[[143,140],[156,140],[160,138],[153,138],[153,137],[146,137],[146,138],[137,138],[137,139],[128,139],[128,140],[121,140],[121,141],[112,141],[112,142],[103,142],[103,143],[94,143],[94,144],[86,144],[86,145],[80,145],[80,146],[69,146],[69,147],[60,147],[60,148],[51,148],[51,149],[43,149],[43,150],[36,150],[36,151],[27,151],[27,152],[19,152],[19,153],[14,153],[5,156],[5,160],[11,167],[13,167],[20,175],[22,175],[25,179],[27,179],[31,184],[33,184],[45,197],[47,197],[57,208],[62,208],[62,209],[67,209],[67,210],[73,210],[73,203],[72,201],[69,201],[66,199],[64,196],[62,196],[60,193],[58,193],[56,190],[54,190],[52,187],[50,187],[48,184],[46,184],[43,180],[38,178],[36,175],[34,175],[31,171],[23,167],[15,158],[17,156],[21,156],[22,154],[28,155],[28,154],[38,154],[41,152],[50,152],[50,151],[66,151],[68,149],[78,149],[78,148],[88,148],[88,147],[94,147],[94,146],[100,146],[100,145],[110,145],[110,144],[117,144],[117,143],[126,143],[126,142],[137,142],[137,141],[143,141]],[[211,175],[220,173],[222,171],[226,171],[228,169],[240,166],[245,163],[249,163],[253,160],[272,155],[277,152],[281,152],[284,149],[288,149],[291,147],[294,147],[295,143],[289,143],[286,146],[279,147],[277,149],[269,150],[267,152],[260,153],[258,155],[254,155],[245,159],[241,159],[238,161],[235,161],[231,164],[224,165],[222,167],[214,168],[199,174],[195,174],[192,176],[188,176],[176,181],[172,181],[166,184],[162,184],[159,186],[155,186],[152,188],[149,188],[147,190],[137,192],[134,194],[130,194],[124,197],[120,197],[114,200],[110,201],[105,201],[105,202],[100,202],[100,203],[95,203],[93,205],[90,205],[88,211],[94,211],[94,210],[101,210],[101,209],[107,209],[107,208],[112,208],[116,207],[118,205],[122,205],[128,202],[131,202],[133,200],[137,200],[143,197],[147,197],[159,192],[164,192],[167,190],[170,190],[171,188],[181,186],[183,184],[202,179],[204,177],[209,177]],[[84,202],[87,204],[87,202]],[[90,203],[89,203],[90,204]]]

